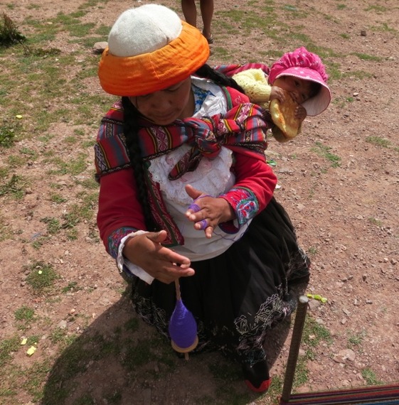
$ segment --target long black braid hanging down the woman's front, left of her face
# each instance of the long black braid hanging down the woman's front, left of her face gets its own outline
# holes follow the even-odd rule
[[[155,231],[158,229],[158,227],[156,226],[149,208],[147,186],[144,180],[143,159],[139,146],[138,118],[140,117],[140,113],[130,102],[128,97],[122,97],[122,106],[124,109],[123,131],[126,138],[127,150],[129,151],[130,163],[132,164],[134,170],[134,178],[136,179],[137,183],[137,189],[139,192],[138,198],[142,204],[147,229],[149,231]]]

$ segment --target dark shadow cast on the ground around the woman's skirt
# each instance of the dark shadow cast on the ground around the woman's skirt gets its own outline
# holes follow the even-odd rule
[[[286,321],[270,333],[271,366],[288,332]],[[239,365],[220,353],[177,357],[168,341],[137,318],[127,291],[60,353],[41,404],[243,405],[257,398],[245,387]]]

